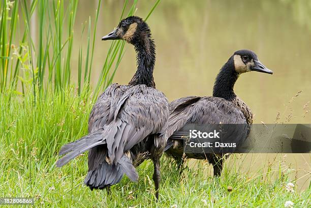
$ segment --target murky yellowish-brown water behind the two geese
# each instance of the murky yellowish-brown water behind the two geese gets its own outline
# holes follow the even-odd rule
[[[80,1],[75,36],[80,22],[94,17],[96,1]],[[136,15],[145,17],[153,3],[142,1]],[[122,2],[104,1],[99,19],[92,77],[103,65],[110,42],[101,37],[118,24]],[[246,73],[235,92],[255,114],[255,123],[281,121],[310,123],[303,106],[311,100],[311,3],[309,1],[162,1],[148,24],[157,46],[154,80],[169,100],[188,95],[209,96],[216,74],[234,51],[251,49],[273,75]],[[86,43],[85,43],[86,45]],[[135,51],[126,46],[114,82],[127,84],[135,73]],[[76,50],[78,53],[78,50]],[[73,55],[74,60],[78,54]],[[75,67],[75,65],[73,65]],[[289,102],[302,90],[302,93]],[[268,156],[273,158],[274,156]],[[260,160],[262,161],[262,160]],[[287,164],[299,170],[298,186],[307,188],[310,155],[288,155]],[[252,162],[254,171],[260,163]],[[247,166],[248,168],[248,166]],[[306,176],[305,176],[306,175]]]

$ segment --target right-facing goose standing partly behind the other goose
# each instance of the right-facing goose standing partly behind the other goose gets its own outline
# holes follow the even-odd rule
[[[253,123],[253,113],[246,103],[234,93],[234,84],[239,75],[246,72],[261,72],[273,74],[265,67],[257,55],[251,50],[238,50],[221,68],[216,77],[213,96],[188,96],[176,99],[170,103],[168,127],[168,142],[166,153],[172,156],[180,165],[186,158],[207,159],[213,165],[214,176],[220,176],[223,169],[223,154],[184,152],[183,143],[189,137],[186,127],[191,125],[214,124],[248,124]],[[249,133],[241,131],[242,137]],[[183,155],[185,154],[185,155]]]

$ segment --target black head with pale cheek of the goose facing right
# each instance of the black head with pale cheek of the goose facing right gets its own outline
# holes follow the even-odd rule
[[[257,58],[256,53],[251,50],[239,50],[233,54],[233,62],[235,71],[238,74],[245,72],[262,72],[273,74],[266,66],[264,66]]]

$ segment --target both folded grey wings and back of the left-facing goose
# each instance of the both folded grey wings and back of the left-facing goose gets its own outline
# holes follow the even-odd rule
[[[123,153],[149,134],[155,146],[167,140],[168,101],[165,95],[145,85],[111,85],[99,97],[89,118],[89,134],[65,145],[59,159],[62,166],[77,155],[89,150],[89,169],[99,167],[108,157],[117,163]]]

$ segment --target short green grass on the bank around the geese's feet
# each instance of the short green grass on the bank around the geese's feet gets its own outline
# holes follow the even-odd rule
[[[162,157],[160,201],[155,202],[152,181],[153,164],[145,161],[138,167],[139,182],[127,177],[105,190],[90,191],[83,185],[87,172],[87,154],[68,165],[57,168],[55,162],[61,145],[77,140],[87,133],[87,118],[92,107],[92,93],[69,87],[65,96],[47,92],[34,106],[34,95],[24,97],[0,94],[0,197],[34,197],[36,205],[54,206],[284,206],[291,200],[295,206],[311,205],[311,191],[287,192],[291,182],[287,167],[281,160],[274,167],[258,172],[242,171],[242,159],[232,156],[225,163],[220,179],[211,177],[210,167],[203,161],[191,164],[179,176],[170,158]],[[40,99],[40,102],[39,102]],[[17,113],[18,112],[18,113]],[[244,164],[245,165],[245,164]],[[209,169],[210,170],[210,169]],[[294,181],[295,183],[295,181]],[[228,191],[228,187],[232,191]]]

